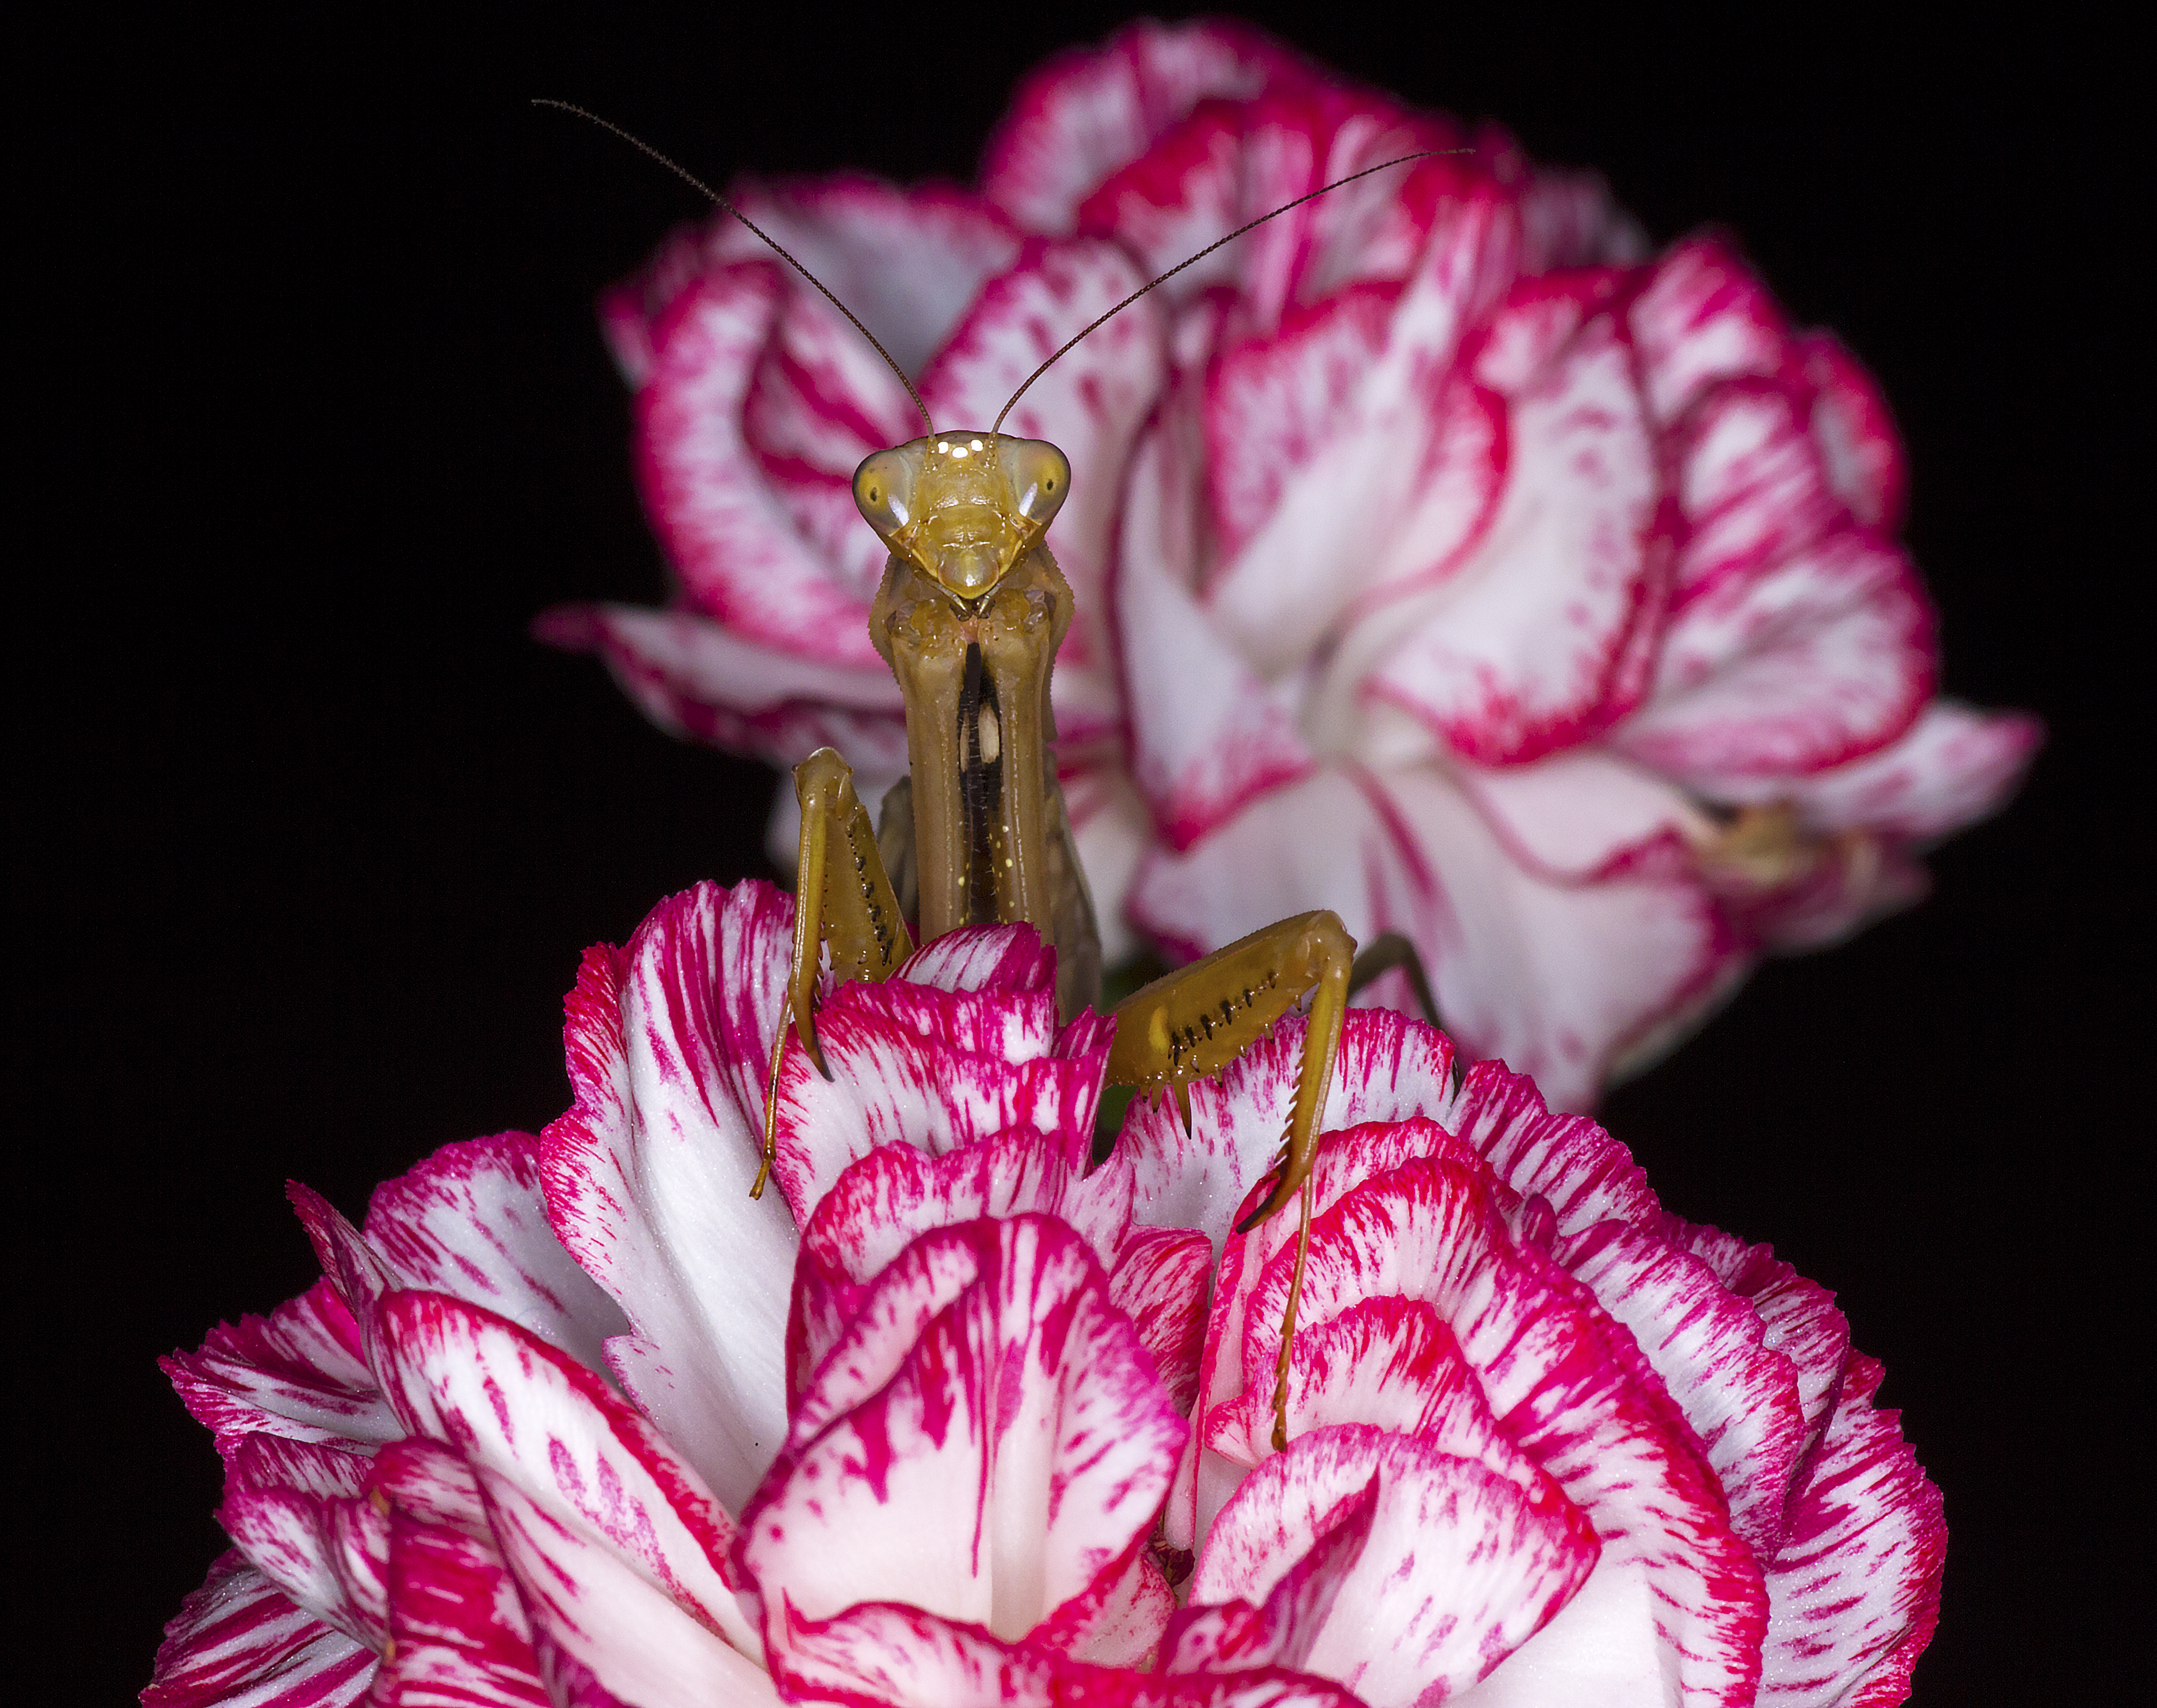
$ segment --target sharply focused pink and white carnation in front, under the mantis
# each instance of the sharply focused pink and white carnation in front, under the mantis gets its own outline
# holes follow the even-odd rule
[[[1100,1165],[1111,1022],[1027,927],[828,992],[699,886],[567,1003],[576,1104],[451,1145],[168,1361],[233,1553],[149,1708],[1892,1704],[1939,1499],[1829,1296],[1497,1063],[1355,1011],[1270,1447],[1301,1020]]]

